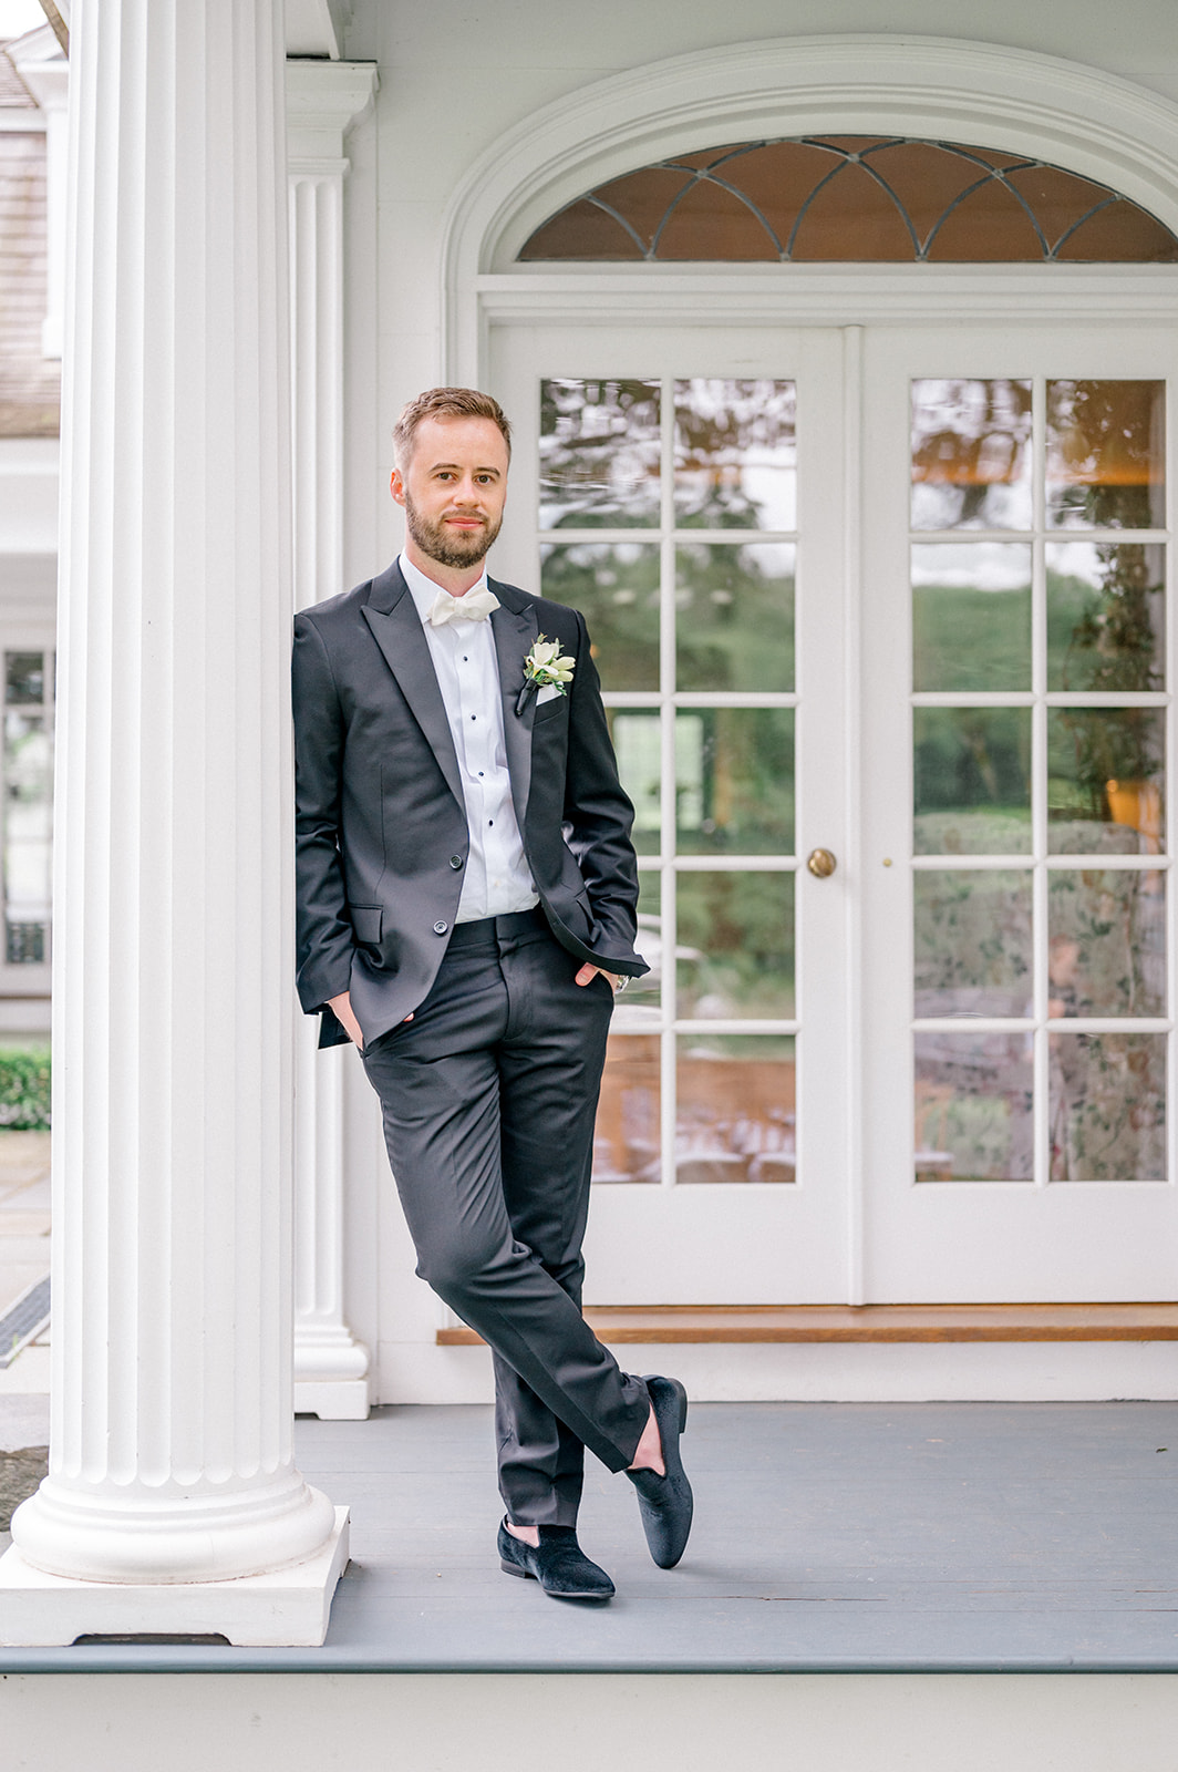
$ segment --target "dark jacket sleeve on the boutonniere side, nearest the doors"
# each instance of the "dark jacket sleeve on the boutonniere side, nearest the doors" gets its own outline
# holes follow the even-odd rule
[[[618,781],[601,679],[585,617],[577,617],[577,664],[569,689],[569,762],[565,826],[569,847],[593,907],[593,952],[611,971],[641,978],[650,968],[634,953],[638,936],[638,859],[631,843],[634,806]]]

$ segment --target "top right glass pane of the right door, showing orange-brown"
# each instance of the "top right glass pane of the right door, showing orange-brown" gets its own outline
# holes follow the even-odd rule
[[[1164,381],[1049,381],[1049,523],[1164,528]]]

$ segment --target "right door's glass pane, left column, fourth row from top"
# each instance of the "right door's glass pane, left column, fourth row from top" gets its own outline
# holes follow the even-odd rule
[[[1029,1015],[1031,874],[918,872],[916,1014]]]

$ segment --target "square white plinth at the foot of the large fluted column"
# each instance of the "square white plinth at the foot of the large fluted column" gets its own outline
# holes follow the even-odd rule
[[[67,1646],[78,1637],[227,1637],[236,1648],[317,1648],[347,1566],[347,1508],[305,1563],[202,1582],[67,1581],[12,1547],[0,1558],[0,1644]]]

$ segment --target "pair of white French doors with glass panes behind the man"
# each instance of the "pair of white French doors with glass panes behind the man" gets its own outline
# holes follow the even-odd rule
[[[489,369],[494,571],[585,610],[638,808],[588,1301],[1173,1295],[1169,337]]]

